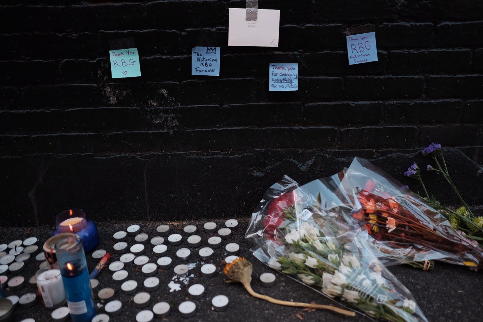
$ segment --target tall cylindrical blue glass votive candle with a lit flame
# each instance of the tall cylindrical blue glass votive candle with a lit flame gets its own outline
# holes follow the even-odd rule
[[[82,239],[67,237],[57,241],[55,248],[72,322],[91,321],[96,307]]]

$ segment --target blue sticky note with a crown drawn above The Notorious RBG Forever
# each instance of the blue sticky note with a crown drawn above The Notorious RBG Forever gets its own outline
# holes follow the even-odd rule
[[[220,47],[194,47],[191,75],[220,76]]]

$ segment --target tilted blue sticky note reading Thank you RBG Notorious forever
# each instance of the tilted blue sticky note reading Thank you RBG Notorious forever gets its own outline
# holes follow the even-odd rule
[[[346,36],[349,65],[377,61],[376,33],[367,32]]]

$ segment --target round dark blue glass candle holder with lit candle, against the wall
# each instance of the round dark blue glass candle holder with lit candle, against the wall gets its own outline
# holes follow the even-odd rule
[[[62,211],[56,217],[56,229],[52,236],[60,233],[74,233],[82,239],[85,252],[90,252],[99,244],[96,224],[85,215],[82,209]]]

